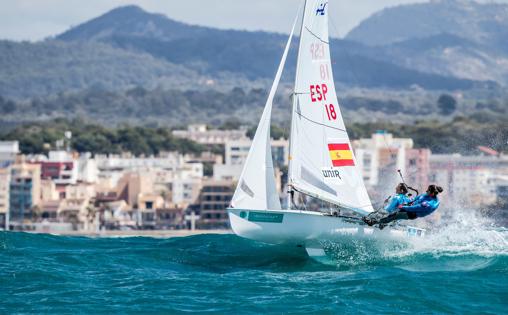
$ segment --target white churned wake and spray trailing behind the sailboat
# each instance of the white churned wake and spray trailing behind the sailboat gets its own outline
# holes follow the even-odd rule
[[[458,213],[424,238],[381,241],[344,238],[323,244],[338,268],[391,265],[410,271],[472,271],[508,257],[508,230]]]

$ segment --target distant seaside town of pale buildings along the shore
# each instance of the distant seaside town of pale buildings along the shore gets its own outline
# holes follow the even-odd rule
[[[23,155],[18,141],[0,141],[0,229],[85,235],[227,230],[226,208],[251,145],[247,131],[206,125],[173,131],[175,138],[220,146],[222,154],[78,154],[70,149],[71,132],[49,144],[47,155]],[[433,220],[460,208],[506,225],[508,156],[484,146],[468,156],[433,154],[384,131],[352,144],[375,207],[393,193],[400,170],[420,192],[430,183],[445,189],[443,210]],[[272,154],[284,198],[288,140],[273,139]]]

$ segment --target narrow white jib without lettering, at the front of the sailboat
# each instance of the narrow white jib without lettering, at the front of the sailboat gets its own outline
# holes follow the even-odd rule
[[[257,209],[257,210],[280,210],[280,199],[275,184],[275,173],[273,169],[272,148],[270,145],[270,121],[272,115],[272,104],[275,92],[286,63],[291,39],[295,30],[295,18],[291,34],[286,43],[286,48],[273,80],[272,88],[252,140],[252,145],[247,155],[240,180],[231,200],[235,208]],[[261,167],[261,169],[260,169]]]

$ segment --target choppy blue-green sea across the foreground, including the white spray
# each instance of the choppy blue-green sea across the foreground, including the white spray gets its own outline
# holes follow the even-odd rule
[[[324,265],[234,235],[0,233],[0,313],[508,313],[505,230],[345,240]]]

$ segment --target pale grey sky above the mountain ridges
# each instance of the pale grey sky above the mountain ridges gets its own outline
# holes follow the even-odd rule
[[[426,0],[330,0],[330,34],[342,37],[385,7],[416,2]],[[288,33],[300,3],[301,0],[0,0],[0,39],[42,40],[129,4],[190,24]]]

